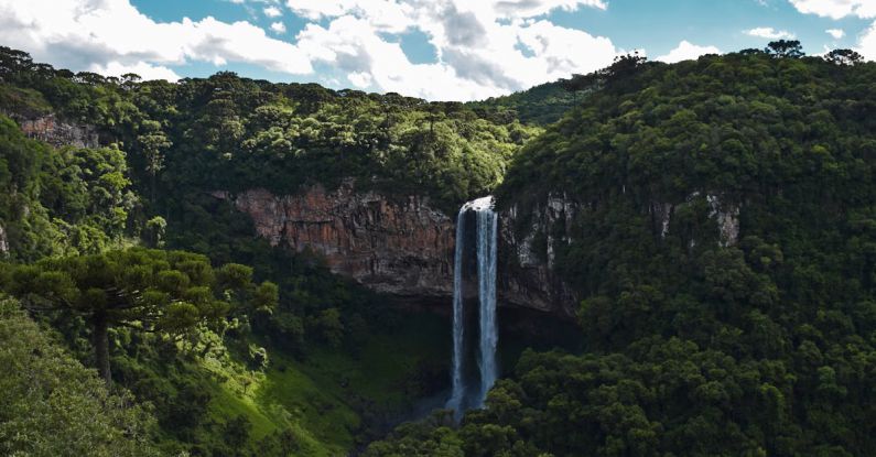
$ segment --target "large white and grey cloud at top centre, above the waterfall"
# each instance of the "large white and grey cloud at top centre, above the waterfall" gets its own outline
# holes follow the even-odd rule
[[[369,17],[379,10],[356,10],[326,26],[311,23],[299,33],[298,45],[314,62],[338,68],[357,87],[455,100],[483,99],[590,73],[609,65],[618,54],[606,37],[547,20],[502,23],[490,4],[471,3],[424,1],[403,11],[401,23],[425,33],[435,47],[434,63],[413,64],[398,43],[386,40],[386,28]]]

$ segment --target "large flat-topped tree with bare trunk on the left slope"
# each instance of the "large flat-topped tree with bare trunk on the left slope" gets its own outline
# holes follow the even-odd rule
[[[229,313],[270,309],[275,286],[252,282],[252,269],[229,263],[214,270],[206,257],[131,248],[42,260],[11,271],[7,290],[32,311],[66,309],[91,326],[95,362],[109,384],[108,329],[182,335],[198,324],[219,327]]]

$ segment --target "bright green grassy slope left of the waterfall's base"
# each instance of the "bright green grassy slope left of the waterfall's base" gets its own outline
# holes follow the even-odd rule
[[[346,455],[361,425],[354,399],[403,412],[419,393],[418,370],[446,362],[447,331],[439,316],[413,315],[392,334],[371,335],[358,358],[344,349],[316,348],[302,362],[268,348],[270,366],[263,372],[248,370],[238,356],[230,362],[207,358],[204,368],[224,380],[214,385],[212,418],[246,416],[253,440],[291,427],[301,455]]]

